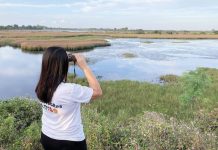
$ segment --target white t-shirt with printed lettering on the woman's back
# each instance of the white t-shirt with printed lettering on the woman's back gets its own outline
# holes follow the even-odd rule
[[[61,83],[50,104],[42,105],[42,132],[57,140],[82,141],[85,139],[80,105],[88,103],[93,89],[74,83]]]

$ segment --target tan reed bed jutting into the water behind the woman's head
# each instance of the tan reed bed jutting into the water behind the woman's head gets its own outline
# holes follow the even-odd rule
[[[20,47],[26,51],[42,51],[49,46],[61,46],[76,51],[109,46],[101,36],[70,32],[0,32],[0,46]]]

